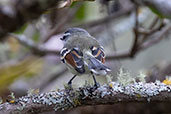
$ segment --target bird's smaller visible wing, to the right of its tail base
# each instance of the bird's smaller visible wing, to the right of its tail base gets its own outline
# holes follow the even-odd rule
[[[92,46],[90,48],[92,55],[98,59],[99,61],[101,61],[103,64],[105,63],[105,54],[104,54],[104,50],[102,47],[95,47]]]

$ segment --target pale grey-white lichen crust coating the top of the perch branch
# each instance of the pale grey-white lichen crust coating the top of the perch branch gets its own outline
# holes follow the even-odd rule
[[[134,82],[123,86],[118,82],[110,82],[99,87],[86,85],[77,89],[57,90],[47,93],[34,94],[31,96],[24,96],[18,99],[22,104],[23,109],[27,103],[33,102],[35,104],[49,105],[54,110],[65,110],[82,105],[83,101],[94,99],[103,99],[106,96],[126,95],[139,100],[145,98],[147,102],[151,101],[153,96],[159,95],[161,92],[171,92],[171,86],[166,85],[160,81],[154,83]],[[118,97],[114,102],[120,102],[123,99]]]

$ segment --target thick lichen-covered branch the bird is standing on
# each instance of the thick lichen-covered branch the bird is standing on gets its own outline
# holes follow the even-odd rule
[[[86,105],[105,105],[125,102],[171,102],[171,85],[136,82],[125,85],[111,82],[98,88],[90,85],[23,96],[15,103],[0,105],[0,113],[41,113],[71,109]]]

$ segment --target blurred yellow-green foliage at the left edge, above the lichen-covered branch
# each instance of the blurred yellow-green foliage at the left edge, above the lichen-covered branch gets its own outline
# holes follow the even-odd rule
[[[0,91],[6,89],[20,76],[32,77],[42,70],[43,61],[37,57],[27,57],[24,60],[0,67]]]

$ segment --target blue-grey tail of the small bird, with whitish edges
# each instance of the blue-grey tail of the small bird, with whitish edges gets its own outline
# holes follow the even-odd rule
[[[106,67],[101,61],[94,57],[88,59],[88,68],[96,75],[106,75],[110,72],[110,68]]]

